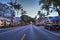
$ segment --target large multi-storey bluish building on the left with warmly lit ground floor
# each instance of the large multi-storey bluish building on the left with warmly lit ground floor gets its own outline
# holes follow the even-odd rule
[[[15,18],[15,12],[8,5],[0,3],[0,26],[10,25]]]

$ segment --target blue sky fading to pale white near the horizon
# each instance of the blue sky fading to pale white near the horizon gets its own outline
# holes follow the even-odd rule
[[[0,0],[0,2],[7,3],[9,0]],[[37,15],[37,12],[40,10],[39,0],[18,0],[18,3],[23,6],[23,9],[27,11],[27,15],[31,17],[35,17]],[[18,15],[16,14],[16,16],[21,16],[20,12]],[[58,14],[57,12],[52,12],[49,16],[58,16]]]

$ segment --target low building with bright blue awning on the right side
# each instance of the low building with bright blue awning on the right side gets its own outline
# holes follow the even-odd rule
[[[39,18],[40,19],[40,18]],[[60,25],[60,16],[55,17],[45,17],[43,18],[40,23],[53,23]]]

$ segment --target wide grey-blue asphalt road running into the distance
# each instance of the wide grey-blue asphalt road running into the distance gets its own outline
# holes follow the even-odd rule
[[[42,27],[26,25],[23,27],[0,29],[0,40],[60,40]]]

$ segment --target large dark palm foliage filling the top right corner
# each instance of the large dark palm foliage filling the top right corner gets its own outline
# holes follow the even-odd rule
[[[60,6],[60,0],[40,0],[39,5],[42,5],[42,9],[45,9],[47,11],[47,14],[49,14],[49,8],[56,9],[60,16],[60,10],[57,8]],[[50,7],[53,4],[53,7]]]

